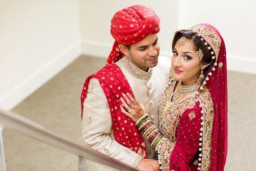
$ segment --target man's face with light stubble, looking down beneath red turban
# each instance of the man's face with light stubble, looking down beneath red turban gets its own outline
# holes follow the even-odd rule
[[[143,71],[155,67],[158,63],[160,51],[157,40],[157,34],[150,34],[143,40],[131,45],[131,49],[128,50],[128,54],[126,55],[127,58]]]

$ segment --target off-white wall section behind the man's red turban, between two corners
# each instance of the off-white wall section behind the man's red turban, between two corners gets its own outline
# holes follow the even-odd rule
[[[80,0],[82,50],[84,54],[108,57],[114,42],[110,34],[111,18],[116,11],[141,4],[152,7],[161,19],[158,34],[161,53],[170,56],[173,34],[177,30],[177,1],[84,1]]]

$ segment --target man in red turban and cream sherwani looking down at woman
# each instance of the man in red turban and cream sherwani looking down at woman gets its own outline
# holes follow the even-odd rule
[[[158,105],[170,69],[168,58],[158,58],[159,23],[149,7],[136,5],[116,12],[111,20],[112,52],[106,66],[84,82],[81,94],[84,143],[139,170],[159,170],[153,160],[156,153],[121,112],[120,98],[130,93],[158,125]]]

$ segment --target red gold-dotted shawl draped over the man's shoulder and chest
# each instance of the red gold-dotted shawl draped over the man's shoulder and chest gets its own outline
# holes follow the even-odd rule
[[[83,115],[83,103],[87,96],[88,84],[91,78],[97,78],[105,93],[110,106],[112,118],[112,129],[115,140],[143,158],[147,157],[144,139],[138,132],[135,123],[125,116],[120,109],[120,97],[122,93],[130,93],[133,97],[132,89],[123,75],[121,69],[113,64],[103,67],[101,70],[90,75],[84,81],[81,93],[81,117]]]

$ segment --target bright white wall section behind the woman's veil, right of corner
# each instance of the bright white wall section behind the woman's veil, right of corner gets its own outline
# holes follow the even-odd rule
[[[222,34],[230,71],[256,74],[256,1],[186,1],[178,4],[178,28],[199,23],[214,25]]]

